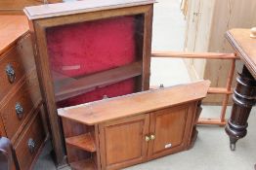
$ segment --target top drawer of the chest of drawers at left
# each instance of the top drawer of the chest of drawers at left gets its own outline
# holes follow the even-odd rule
[[[3,98],[13,86],[19,83],[25,73],[34,68],[30,36],[23,37],[0,58],[0,98]]]

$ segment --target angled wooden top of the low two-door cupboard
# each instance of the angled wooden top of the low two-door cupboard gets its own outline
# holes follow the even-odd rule
[[[58,110],[58,114],[66,119],[92,125],[202,99],[206,96],[209,85],[209,81],[201,81],[188,85],[152,89],[62,108]]]

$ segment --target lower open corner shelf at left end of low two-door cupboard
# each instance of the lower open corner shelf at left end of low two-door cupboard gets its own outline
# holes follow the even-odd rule
[[[91,158],[72,162],[70,163],[70,166],[74,170],[80,170],[80,169],[97,170],[96,165],[93,159]]]

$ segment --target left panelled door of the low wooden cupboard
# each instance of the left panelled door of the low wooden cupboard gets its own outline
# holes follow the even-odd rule
[[[100,124],[103,169],[120,169],[147,159],[149,115],[117,119]]]

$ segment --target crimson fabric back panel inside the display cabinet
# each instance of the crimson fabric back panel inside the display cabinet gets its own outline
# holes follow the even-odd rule
[[[47,47],[56,91],[64,83],[124,66],[143,58],[144,17],[110,17],[46,29]],[[58,75],[58,77],[57,77]],[[69,81],[68,81],[69,80]],[[58,103],[66,107],[136,92],[137,78],[96,87]],[[140,86],[140,85],[139,85]]]

